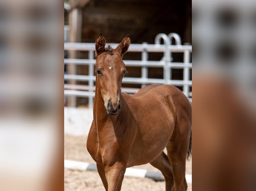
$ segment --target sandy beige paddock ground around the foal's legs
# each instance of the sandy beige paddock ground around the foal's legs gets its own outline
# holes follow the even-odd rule
[[[87,136],[64,135],[64,158],[96,164],[86,149]],[[134,168],[147,169],[158,172],[150,164],[135,166]],[[186,162],[186,174],[192,174],[192,158]],[[64,170],[65,191],[104,191],[97,171]],[[164,191],[165,182],[156,182],[149,178],[124,177],[122,191]],[[188,184],[187,191],[192,190],[192,184]]]

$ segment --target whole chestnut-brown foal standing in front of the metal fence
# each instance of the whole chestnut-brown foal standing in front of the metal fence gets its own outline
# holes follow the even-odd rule
[[[121,93],[126,73],[122,58],[130,41],[127,35],[112,49],[105,48],[101,33],[96,39],[96,90],[87,149],[108,191],[121,190],[127,167],[146,163],[162,172],[166,190],[184,191],[191,105],[171,85],[149,85],[134,95]]]

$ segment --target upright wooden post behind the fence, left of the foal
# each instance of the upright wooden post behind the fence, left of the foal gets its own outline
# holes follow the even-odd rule
[[[82,9],[73,9],[69,13],[69,42],[81,42],[81,34],[82,34]],[[77,51],[69,51],[69,58],[75,59],[77,58]],[[68,74],[76,75],[76,65],[69,64],[68,65]],[[69,84],[76,84],[75,80],[70,80]],[[76,96],[68,96],[67,101],[68,106],[76,107],[77,99]]]

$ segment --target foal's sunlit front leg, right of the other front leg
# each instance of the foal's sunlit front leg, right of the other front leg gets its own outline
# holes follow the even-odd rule
[[[124,179],[126,165],[123,162],[116,162],[112,166],[105,167],[108,191],[120,191]]]

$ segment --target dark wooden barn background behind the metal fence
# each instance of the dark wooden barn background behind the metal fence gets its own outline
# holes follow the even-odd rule
[[[181,44],[191,45],[191,1],[168,1],[161,2],[157,0],[138,1],[98,1],[98,0],[70,0],[64,3],[65,18],[65,42],[70,43],[95,43],[96,37],[102,33],[107,44],[120,43],[122,39],[130,34],[132,44],[155,43],[155,37],[159,33],[169,34],[177,33],[180,36]],[[175,39],[172,39],[175,44]],[[161,40],[163,43],[163,40]],[[85,46],[85,45],[77,45]],[[87,45],[89,46],[89,45]],[[94,49],[94,45],[93,49]],[[65,58],[67,59],[90,59],[88,51],[74,48],[69,49],[65,46]],[[93,53],[94,54],[94,53]],[[160,61],[163,57],[163,51],[147,53],[147,60]],[[172,53],[172,62],[183,62],[182,52]],[[191,58],[191,56],[189,55]],[[93,56],[94,59],[94,56]],[[134,52],[131,48],[125,54],[124,60],[141,60],[142,53]],[[188,59],[188,62],[191,62]],[[69,63],[68,63],[69,62]],[[82,61],[80,61],[82,62]],[[185,62],[185,61],[184,61]],[[136,63],[135,63],[136,64]],[[139,64],[139,62],[137,62]],[[128,74],[126,77],[142,77],[141,66],[126,65]],[[172,80],[183,80],[183,68],[173,68],[168,71]],[[188,70],[188,80],[191,80],[191,67]],[[75,77],[68,75],[89,75],[90,66],[86,63],[72,63],[65,61],[65,90],[85,90],[89,85],[88,80],[76,80]],[[94,72],[93,72],[94,74]],[[189,77],[190,76],[190,77]],[[154,79],[163,79],[163,67],[148,67],[147,77]],[[68,80],[68,81],[67,81]],[[125,88],[141,88],[143,85],[136,83],[125,83]],[[73,86],[71,86],[71,84]],[[78,85],[78,86],[74,86]],[[183,90],[182,85],[177,85]],[[65,105],[72,107],[88,106],[90,100],[81,95],[74,96],[66,91]],[[191,87],[190,87],[191,92]],[[134,93],[134,92],[133,92]],[[190,96],[191,97],[191,96]]]

